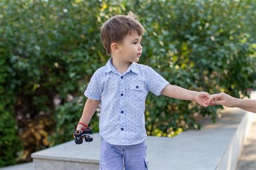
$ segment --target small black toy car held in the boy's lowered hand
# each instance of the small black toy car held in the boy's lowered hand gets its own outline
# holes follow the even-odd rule
[[[93,138],[91,137],[90,134],[92,134],[92,128],[90,127],[86,127],[84,131],[76,130],[73,134],[73,137],[75,138],[75,143],[82,144],[83,139],[87,142],[92,141]]]

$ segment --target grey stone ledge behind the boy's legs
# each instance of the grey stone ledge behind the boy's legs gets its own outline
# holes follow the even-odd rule
[[[254,93],[255,94],[255,93]],[[256,114],[226,108],[217,122],[202,130],[188,130],[177,137],[146,138],[150,169],[235,169],[252,119]],[[91,143],[62,145],[35,152],[35,169],[99,169],[100,136]]]

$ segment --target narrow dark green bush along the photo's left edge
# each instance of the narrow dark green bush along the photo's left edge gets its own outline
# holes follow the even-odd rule
[[[0,42],[1,43],[1,42]],[[0,44],[0,167],[16,164],[22,143],[18,137],[14,117],[14,86],[8,77],[8,59],[2,43]]]

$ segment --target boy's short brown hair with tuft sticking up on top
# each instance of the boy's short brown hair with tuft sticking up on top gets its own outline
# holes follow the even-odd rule
[[[117,15],[108,19],[100,27],[100,39],[106,53],[111,55],[111,44],[113,42],[122,43],[122,40],[127,34],[137,31],[139,36],[142,36],[146,30],[139,23],[138,17],[133,12],[128,12],[128,15]]]

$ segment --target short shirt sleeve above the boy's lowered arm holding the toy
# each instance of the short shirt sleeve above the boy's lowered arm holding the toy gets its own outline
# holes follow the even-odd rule
[[[99,70],[92,75],[91,80],[84,91],[84,95],[92,100],[100,100],[103,91],[102,75]]]

